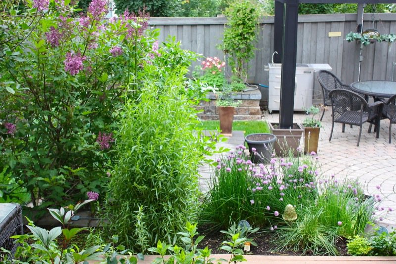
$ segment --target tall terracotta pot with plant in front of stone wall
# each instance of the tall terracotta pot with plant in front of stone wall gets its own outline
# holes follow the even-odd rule
[[[232,122],[234,120],[235,107],[241,104],[240,100],[232,98],[232,91],[229,85],[224,85],[223,90],[218,93],[216,106],[219,111],[220,130],[224,136],[232,135]]]

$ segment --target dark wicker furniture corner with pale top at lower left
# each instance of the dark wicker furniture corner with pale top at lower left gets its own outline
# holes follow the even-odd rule
[[[0,249],[0,261],[13,259],[18,245],[11,236],[22,234],[22,207],[19,204],[0,204],[0,248],[11,252],[6,254]]]

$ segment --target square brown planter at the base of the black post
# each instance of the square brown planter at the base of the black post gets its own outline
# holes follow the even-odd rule
[[[271,134],[276,136],[274,150],[279,157],[285,157],[292,152],[294,156],[298,155],[297,148],[300,146],[304,127],[301,124],[293,124],[291,129],[278,128],[279,124],[269,123]]]

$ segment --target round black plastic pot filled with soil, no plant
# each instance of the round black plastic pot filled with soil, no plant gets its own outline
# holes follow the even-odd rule
[[[276,136],[269,133],[249,134],[245,137],[249,146],[250,160],[253,163],[269,163],[274,150]],[[255,148],[256,151],[252,151]]]

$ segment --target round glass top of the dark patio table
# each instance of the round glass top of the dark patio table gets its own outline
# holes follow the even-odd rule
[[[396,94],[394,81],[362,81],[354,82],[350,86],[355,92],[371,96],[391,97]]]

